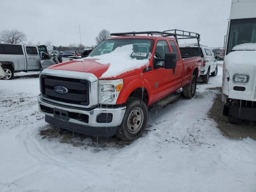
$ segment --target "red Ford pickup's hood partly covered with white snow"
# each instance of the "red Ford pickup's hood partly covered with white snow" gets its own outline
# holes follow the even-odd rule
[[[108,54],[60,63],[48,69],[88,72],[98,79],[124,78],[141,73],[142,68],[149,63],[149,58],[143,60],[131,58],[132,52],[132,45],[125,45]]]

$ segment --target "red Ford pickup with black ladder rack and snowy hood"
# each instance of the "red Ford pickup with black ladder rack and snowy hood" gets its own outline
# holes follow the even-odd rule
[[[177,98],[180,88],[186,98],[195,95],[201,57],[182,58],[178,39],[196,38],[199,46],[199,34],[168,30],[111,35],[117,37],[101,42],[88,58],[41,72],[38,105],[46,122],[131,141],[142,135],[151,108]]]

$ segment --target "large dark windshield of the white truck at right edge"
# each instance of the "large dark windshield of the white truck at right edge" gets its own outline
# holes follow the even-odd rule
[[[256,43],[256,19],[230,21],[227,54],[238,44]]]

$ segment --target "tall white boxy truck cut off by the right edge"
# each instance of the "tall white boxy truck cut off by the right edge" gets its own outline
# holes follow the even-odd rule
[[[223,115],[256,120],[256,0],[232,0],[223,64]]]

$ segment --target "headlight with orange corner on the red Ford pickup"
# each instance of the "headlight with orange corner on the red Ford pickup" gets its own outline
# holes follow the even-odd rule
[[[123,86],[123,79],[99,80],[99,104],[116,104]]]

